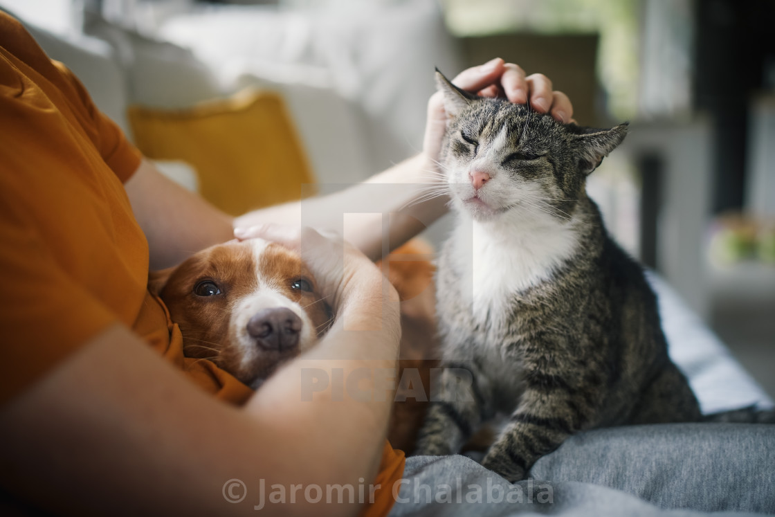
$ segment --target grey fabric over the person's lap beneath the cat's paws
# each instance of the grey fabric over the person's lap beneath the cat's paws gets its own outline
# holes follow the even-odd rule
[[[580,433],[509,484],[463,456],[411,457],[391,515],[775,514],[775,426],[673,424]]]

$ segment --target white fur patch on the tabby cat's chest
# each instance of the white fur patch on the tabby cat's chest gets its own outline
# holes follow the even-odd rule
[[[573,226],[517,214],[488,222],[460,216],[453,237],[455,254],[474,319],[491,327],[505,322],[515,295],[549,280],[574,254]]]

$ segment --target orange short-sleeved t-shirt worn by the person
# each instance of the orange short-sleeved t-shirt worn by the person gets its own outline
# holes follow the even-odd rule
[[[148,243],[122,184],[140,159],[77,78],[0,12],[0,404],[115,322],[216,397],[252,394],[183,357],[180,330],[147,290]],[[403,464],[386,444],[370,515],[391,508]]]

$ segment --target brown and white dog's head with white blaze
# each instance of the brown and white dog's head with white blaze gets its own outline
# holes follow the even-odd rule
[[[212,360],[253,387],[332,322],[298,253],[260,239],[195,254],[172,271],[160,298],[187,357]]]

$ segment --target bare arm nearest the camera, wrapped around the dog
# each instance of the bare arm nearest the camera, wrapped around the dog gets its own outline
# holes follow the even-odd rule
[[[306,235],[305,246],[319,240]],[[330,257],[330,251],[317,255]],[[47,495],[46,508],[58,512],[84,513],[85,506],[100,513],[220,515],[252,512],[261,479],[267,491],[271,484],[288,490],[291,484],[357,489],[360,478],[368,484],[391,393],[361,399],[349,389],[305,392],[309,372],[333,379],[338,368],[347,379],[363,368],[394,368],[400,334],[394,291],[360,253],[346,248],[343,264],[340,279],[325,281],[338,291],[336,325],[241,409],[198,391],[126,327],[100,333],[2,408],[4,486],[36,501]],[[360,378],[360,391],[379,389],[377,381]],[[232,478],[247,485],[242,505],[224,501],[223,484]],[[357,509],[310,508],[301,493],[299,499],[283,512],[346,515]]]

